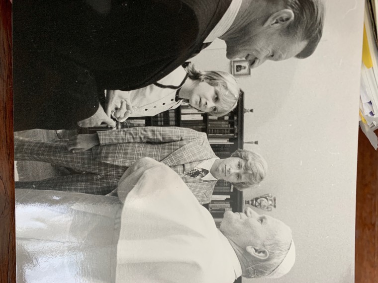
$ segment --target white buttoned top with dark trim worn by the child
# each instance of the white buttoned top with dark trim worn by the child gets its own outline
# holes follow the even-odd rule
[[[155,116],[175,109],[182,103],[182,100],[176,99],[176,92],[184,84],[187,75],[185,69],[180,66],[157,83],[130,91],[115,90],[116,101],[120,105],[122,99],[130,98],[134,112],[129,118]]]

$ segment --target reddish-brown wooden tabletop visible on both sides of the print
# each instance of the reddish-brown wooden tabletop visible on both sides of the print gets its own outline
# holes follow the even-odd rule
[[[11,4],[0,0],[0,283],[15,282],[13,136],[11,116]],[[376,283],[378,152],[359,132],[356,283]]]

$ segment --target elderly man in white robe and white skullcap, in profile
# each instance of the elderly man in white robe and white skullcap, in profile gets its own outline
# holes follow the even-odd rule
[[[17,282],[232,283],[278,278],[294,264],[283,222],[248,208],[226,212],[218,230],[153,159],[125,172],[118,197],[17,189]]]

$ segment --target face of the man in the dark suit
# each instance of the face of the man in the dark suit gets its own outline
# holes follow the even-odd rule
[[[227,58],[246,59],[251,69],[260,66],[266,60],[282,61],[292,58],[307,45],[306,40],[285,35],[280,29],[274,28],[246,28],[225,42]]]

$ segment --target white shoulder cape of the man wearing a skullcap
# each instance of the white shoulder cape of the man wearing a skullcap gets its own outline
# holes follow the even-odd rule
[[[116,283],[233,283],[241,267],[211,214],[172,169],[152,162],[135,184],[132,173],[118,186],[120,199],[123,188],[132,190],[121,215]]]

